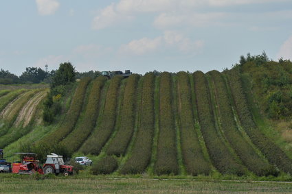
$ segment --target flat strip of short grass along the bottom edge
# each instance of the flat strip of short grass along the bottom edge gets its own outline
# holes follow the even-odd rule
[[[0,175],[0,193],[291,193],[292,182]]]

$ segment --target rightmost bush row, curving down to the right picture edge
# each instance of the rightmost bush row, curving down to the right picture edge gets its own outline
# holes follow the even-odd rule
[[[234,69],[228,71],[227,75],[238,117],[245,132],[247,132],[251,141],[262,151],[271,164],[276,165],[284,172],[292,174],[292,160],[275,143],[269,140],[267,136],[262,134],[254,123],[239,73]]]

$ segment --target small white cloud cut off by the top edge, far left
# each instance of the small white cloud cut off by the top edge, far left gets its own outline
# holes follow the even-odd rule
[[[42,16],[51,15],[58,10],[60,3],[57,0],[36,0],[38,13]]]

